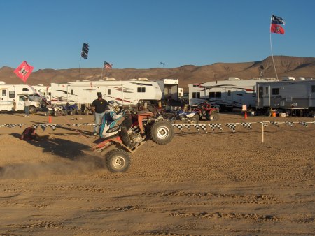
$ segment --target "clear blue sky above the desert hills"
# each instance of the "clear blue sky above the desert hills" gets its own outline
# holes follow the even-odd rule
[[[0,68],[175,68],[315,56],[313,0],[0,1]],[[80,59],[83,43],[90,51]],[[165,63],[165,66],[160,64]]]

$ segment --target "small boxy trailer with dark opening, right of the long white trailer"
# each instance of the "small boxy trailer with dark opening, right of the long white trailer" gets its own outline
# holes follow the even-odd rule
[[[179,101],[179,80],[178,79],[161,79],[154,80],[160,86],[162,91],[162,100]]]

